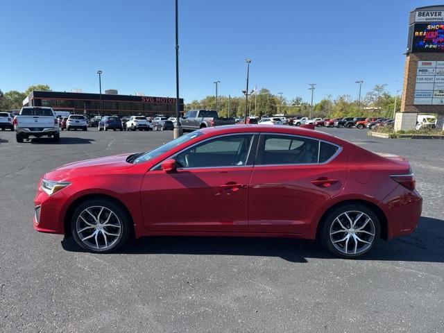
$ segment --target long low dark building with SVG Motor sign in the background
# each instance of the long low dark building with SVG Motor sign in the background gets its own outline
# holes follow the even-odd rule
[[[102,103],[102,108],[101,108]],[[131,116],[142,114],[166,117],[176,115],[176,99],[172,97],[119,95],[117,90],[105,94],[83,92],[44,92],[34,90],[23,101],[23,106],[49,106],[54,111],[69,111],[73,114],[118,114]],[[102,111],[103,110],[103,111]],[[179,110],[183,113],[183,99],[179,99]]]

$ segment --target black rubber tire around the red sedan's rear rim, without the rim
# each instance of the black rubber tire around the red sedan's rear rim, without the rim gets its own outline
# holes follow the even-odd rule
[[[358,253],[357,255],[345,255],[344,253],[341,253],[339,250],[337,250],[332,244],[332,241],[330,240],[330,227],[337,216],[339,216],[343,212],[348,212],[352,210],[364,212],[373,220],[373,223],[375,224],[375,239],[373,240],[373,244],[370,246],[370,248],[365,250],[363,253]],[[323,220],[321,225],[321,241],[325,246],[325,248],[327,248],[327,250],[336,255],[336,257],[341,257],[345,259],[354,259],[365,256],[367,253],[370,252],[370,250],[372,250],[375,247],[375,244],[377,244],[380,234],[381,234],[381,223],[377,215],[375,214],[375,212],[373,212],[373,210],[370,210],[370,208],[368,208],[366,205],[360,205],[360,204],[350,204],[337,207],[335,210],[330,212],[330,214],[325,216],[325,219]]]

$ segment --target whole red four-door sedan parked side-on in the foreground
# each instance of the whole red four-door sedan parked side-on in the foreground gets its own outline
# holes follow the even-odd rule
[[[402,157],[314,130],[238,125],[46,173],[34,228],[97,253],[133,236],[200,235],[320,239],[350,258],[413,232],[421,208]]]

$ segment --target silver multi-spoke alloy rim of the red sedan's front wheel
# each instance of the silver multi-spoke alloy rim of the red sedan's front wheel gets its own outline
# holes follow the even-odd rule
[[[107,207],[87,207],[76,221],[76,232],[80,241],[88,248],[106,250],[122,235],[122,223],[117,214]]]

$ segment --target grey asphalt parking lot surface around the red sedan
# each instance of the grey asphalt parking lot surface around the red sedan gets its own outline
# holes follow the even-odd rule
[[[323,129],[409,158],[418,230],[365,259],[311,241],[146,237],[94,255],[32,227],[40,176],[67,162],[148,151],[172,132],[0,132],[1,332],[444,332],[444,141]],[[173,204],[173,203],[172,203]]]

